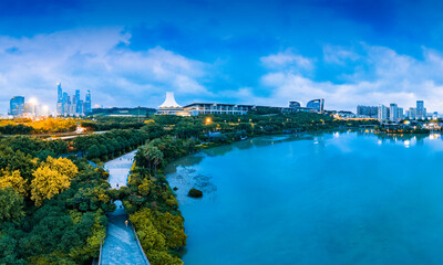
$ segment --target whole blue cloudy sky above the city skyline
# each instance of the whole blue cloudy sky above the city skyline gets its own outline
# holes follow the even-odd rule
[[[442,1],[1,0],[0,113],[55,107],[56,83],[103,107],[194,102],[443,113]]]

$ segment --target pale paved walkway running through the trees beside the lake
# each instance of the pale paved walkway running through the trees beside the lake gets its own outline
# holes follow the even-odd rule
[[[127,183],[133,159],[136,151],[130,152],[117,159],[105,163],[105,169],[110,172],[110,184],[112,188],[120,189]],[[117,209],[107,214],[107,233],[102,247],[100,265],[148,265],[146,257],[135,239],[131,225],[126,227],[125,221],[128,220],[122,202],[116,201]]]

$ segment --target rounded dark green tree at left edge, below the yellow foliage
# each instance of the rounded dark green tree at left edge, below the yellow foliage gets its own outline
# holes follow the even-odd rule
[[[19,221],[24,216],[24,202],[12,188],[0,189],[0,223],[6,221]]]

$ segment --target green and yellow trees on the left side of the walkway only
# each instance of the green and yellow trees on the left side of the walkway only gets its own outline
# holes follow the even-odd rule
[[[123,152],[144,141],[135,142],[141,134],[131,130],[100,137],[120,140],[116,151]],[[91,264],[99,256],[105,212],[115,210],[109,173],[83,158],[60,157],[69,156],[70,145],[23,136],[0,140],[0,264]]]

